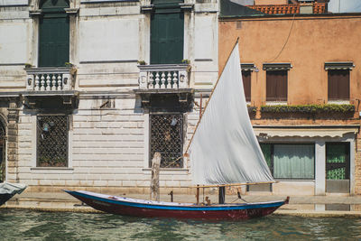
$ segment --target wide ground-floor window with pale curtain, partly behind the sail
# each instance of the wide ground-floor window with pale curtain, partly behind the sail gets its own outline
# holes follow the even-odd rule
[[[314,144],[261,144],[274,179],[314,179]]]

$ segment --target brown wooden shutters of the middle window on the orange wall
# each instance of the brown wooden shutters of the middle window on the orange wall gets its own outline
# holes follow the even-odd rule
[[[266,72],[266,101],[287,101],[287,70]]]

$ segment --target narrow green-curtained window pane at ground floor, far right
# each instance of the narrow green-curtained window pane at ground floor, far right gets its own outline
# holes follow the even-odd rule
[[[349,143],[326,144],[326,179],[349,179]]]

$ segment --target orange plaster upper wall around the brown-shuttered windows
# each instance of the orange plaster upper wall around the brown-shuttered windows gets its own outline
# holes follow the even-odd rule
[[[236,22],[238,29],[236,28]],[[219,23],[219,69],[224,66],[239,37],[241,62],[255,63],[259,72],[252,75],[251,103],[265,104],[263,63],[287,62],[288,104],[328,102],[328,61],[353,61],[350,72],[350,100],[361,99],[361,16],[296,16],[239,18]],[[290,32],[291,30],[291,32]]]

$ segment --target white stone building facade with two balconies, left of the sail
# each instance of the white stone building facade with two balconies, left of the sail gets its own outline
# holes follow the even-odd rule
[[[217,79],[215,1],[1,1],[2,179],[148,193],[161,152],[163,191],[189,192],[180,156]]]

